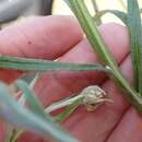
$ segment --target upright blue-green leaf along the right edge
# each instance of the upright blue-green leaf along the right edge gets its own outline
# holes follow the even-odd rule
[[[127,23],[130,35],[135,90],[142,95],[142,26],[137,0],[128,0]]]

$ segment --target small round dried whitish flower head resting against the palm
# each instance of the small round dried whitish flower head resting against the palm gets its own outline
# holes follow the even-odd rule
[[[83,104],[86,106],[88,111],[96,109],[97,106],[104,104],[105,102],[113,102],[97,85],[85,87],[80,95],[83,95]]]

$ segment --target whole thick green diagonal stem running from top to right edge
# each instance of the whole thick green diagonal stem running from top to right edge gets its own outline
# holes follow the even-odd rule
[[[106,47],[98,29],[96,23],[93,21],[88,10],[83,0],[68,0],[69,5],[76,15],[87,39],[90,40],[93,49],[98,54],[99,58],[113,70],[115,80],[119,85],[127,91],[123,93],[125,97],[132,104],[140,113],[142,113],[142,98],[140,95],[129,85],[127,80],[122,76],[119,71],[116,60],[113,58],[108,48]]]

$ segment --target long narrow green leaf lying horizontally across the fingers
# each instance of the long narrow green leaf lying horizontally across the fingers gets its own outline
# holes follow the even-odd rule
[[[9,57],[9,56],[0,56],[0,68],[25,70],[25,71],[49,71],[49,70],[108,71],[108,69],[104,68],[100,64],[64,63],[58,61],[47,61],[47,60],[19,58],[19,57]]]

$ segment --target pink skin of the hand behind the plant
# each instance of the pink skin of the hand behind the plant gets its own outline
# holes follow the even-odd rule
[[[99,32],[122,73],[132,84],[127,28],[109,23],[102,25]],[[4,28],[0,32],[0,54],[48,60],[59,58],[63,62],[99,62],[78,22],[69,16],[36,17]],[[1,70],[0,79],[12,83],[21,74],[20,71]],[[47,106],[92,84],[100,85],[114,99],[114,104],[102,105],[93,113],[80,107],[63,126],[82,142],[142,141],[141,116],[103,72],[47,72],[37,82],[35,91]],[[0,141],[3,141],[3,137],[4,128],[1,125]],[[47,142],[29,132],[25,132],[17,142],[25,141]]]

